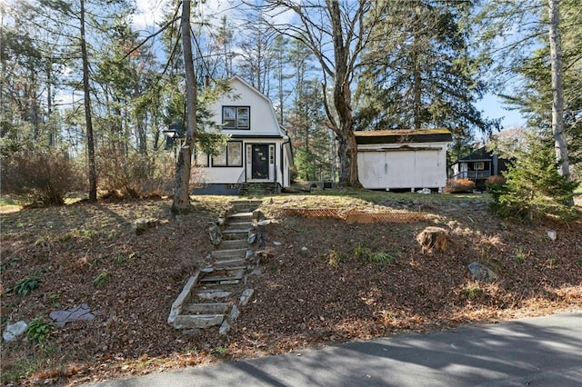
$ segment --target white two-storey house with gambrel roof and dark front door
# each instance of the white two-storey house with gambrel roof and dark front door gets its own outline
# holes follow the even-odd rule
[[[231,92],[210,106],[214,121],[230,134],[220,154],[196,154],[205,181],[196,193],[236,194],[247,184],[280,192],[290,184],[291,143],[279,126],[271,100],[241,78],[229,80]]]

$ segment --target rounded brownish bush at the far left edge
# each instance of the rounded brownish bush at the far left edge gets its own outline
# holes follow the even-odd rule
[[[23,196],[34,205],[61,205],[66,193],[83,186],[74,161],[56,151],[32,150],[2,160],[3,193]]]

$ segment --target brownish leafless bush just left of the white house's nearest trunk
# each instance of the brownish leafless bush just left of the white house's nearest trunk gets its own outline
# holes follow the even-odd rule
[[[127,198],[162,196],[174,180],[175,162],[170,153],[124,153],[103,147],[96,157],[99,188],[107,195]]]

